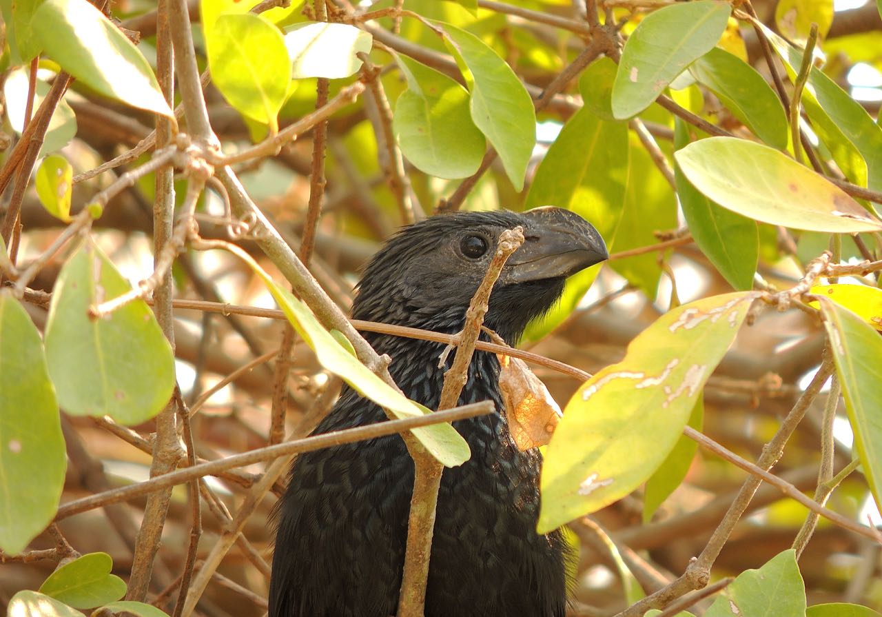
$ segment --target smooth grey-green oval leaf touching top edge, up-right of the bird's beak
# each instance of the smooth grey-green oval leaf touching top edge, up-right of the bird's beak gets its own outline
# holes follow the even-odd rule
[[[689,64],[713,49],[731,11],[729,3],[699,0],[647,15],[622,50],[612,88],[615,117],[629,118],[647,109]]]

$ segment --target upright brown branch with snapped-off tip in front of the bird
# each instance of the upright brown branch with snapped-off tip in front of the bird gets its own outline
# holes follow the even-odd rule
[[[523,229],[516,227],[502,232],[496,253],[490,261],[481,285],[475,291],[466,312],[466,323],[460,335],[460,345],[453,364],[444,377],[438,410],[453,407],[460,399],[462,388],[468,380],[468,366],[475,352],[475,342],[481,335],[484,315],[489,310],[490,292],[502,273],[505,261],[524,243]],[[444,466],[428,453],[414,456],[414,493],[410,500],[410,516],[407,520],[407,548],[398,617],[420,617],[424,612],[426,582],[435,526],[438,488]]]

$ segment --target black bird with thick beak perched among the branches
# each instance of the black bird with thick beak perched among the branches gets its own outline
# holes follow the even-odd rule
[[[515,342],[554,305],[564,279],[607,258],[592,225],[567,210],[433,216],[402,229],[365,268],[353,317],[454,334],[464,324],[499,234],[520,225],[526,241],[505,265],[484,323]],[[368,335],[405,395],[439,403],[444,345]],[[537,451],[509,434],[495,354],[476,351],[459,404],[490,399],[497,413],[455,428],[472,457],[445,469],[438,495],[426,617],[563,617],[566,548],[536,533]],[[326,433],[385,419],[344,388],[318,425]],[[389,617],[398,605],[414,465],[398,435],[300,455],[276,515],[270,617]]]

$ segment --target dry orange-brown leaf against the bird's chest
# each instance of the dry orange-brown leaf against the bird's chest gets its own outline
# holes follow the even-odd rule
[[[563,415],[545,384],[517,357],[497,356],[499,390],[508,415],[508,428],[518,448],[538,448],[551,440]]]

